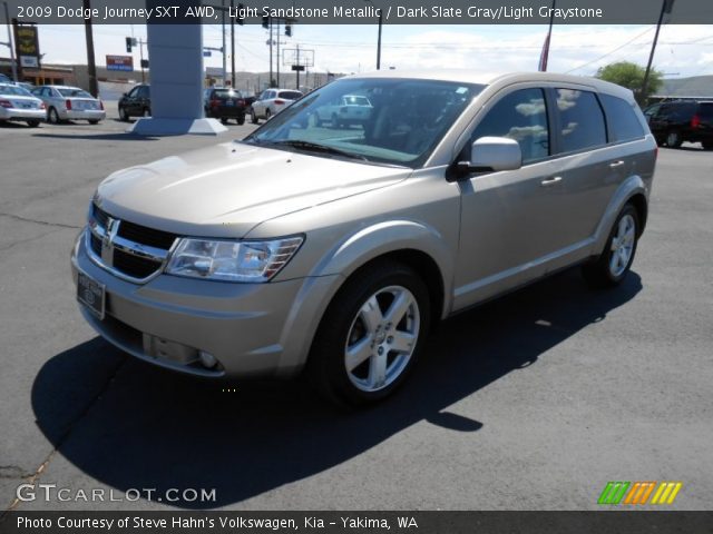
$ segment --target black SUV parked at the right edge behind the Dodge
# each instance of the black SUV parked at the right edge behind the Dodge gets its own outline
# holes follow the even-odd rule
[[[683,141],[701,142],[713,150],[713,101],[675,100],[644,110],[658,145],[678,148]]]

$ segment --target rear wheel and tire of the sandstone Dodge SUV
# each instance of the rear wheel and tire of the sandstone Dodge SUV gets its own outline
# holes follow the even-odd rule
[[[593,287],[618,286],[632,267],[639,235],[638,212],[627,204],[616,218],[602,255],[582,267],[585,280]]]

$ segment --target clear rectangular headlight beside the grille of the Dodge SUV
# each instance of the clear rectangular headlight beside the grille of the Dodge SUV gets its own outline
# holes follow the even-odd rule
[[[270,241],[184,237],[166,266],[169,275],[225,281],[267,281],[302,245],[302,237]]]

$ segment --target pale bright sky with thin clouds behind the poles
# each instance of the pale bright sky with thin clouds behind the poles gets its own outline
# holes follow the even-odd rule
[[[383,69],[459,68],[489,77],[508,71],[537,70],[547,32],[546,26],[388,26],[383,27]],[[314,50],[314,68],[320,72],[359,72],[375,69],[378,26],[296,24],[293,37],[281,37],[281,47]],[[655,26],[555,24],[548,70],[593,76],[597,68],[615,61],[646,65]],[[106,55],[126,55],[125,37],[146,38],[145,26],[94,26],[98,65]],[[46,63],[86,63],[84,26],[39,28],[40,51]],[[229,27],[227,29],[229,51]],[[219,48],[219,26],[204,27],[204,46]],[[236,26],[236,71],[264,72],[270,69],[267,31],[260,26]],[[0,40],[7,40],[0,28]],[[3,56],[7,49],[0,49]],[[134,51],[138,65],[138,49]],[[227,56],[229,70],[231,59]],[[222,56],[213,52],[205,66],[221,67]],[[654,67],[664,78],[713,75],[713,26],[662,27]],[[282,69],[283,67],[281,67]],[[286,70],[286,68],[285,68]]]

